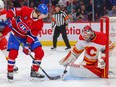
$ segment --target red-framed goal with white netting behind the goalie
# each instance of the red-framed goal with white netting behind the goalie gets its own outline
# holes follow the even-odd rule
[[[102,17],[100,30],[106,33],[108,44],[106,46],[106,63],[108,73],[116,74],[116,17]]]

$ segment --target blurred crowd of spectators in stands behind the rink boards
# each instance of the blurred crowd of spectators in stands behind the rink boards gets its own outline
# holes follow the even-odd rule
[[[49,7],[49,15],[44,19],[45,22],[51,22],[56,4],[67,13],[70,22],[97,22],[101,16],[116,16],[116,0],[7,0],[7,8],[22,6],[34,8],[40,3],[45,3]]]

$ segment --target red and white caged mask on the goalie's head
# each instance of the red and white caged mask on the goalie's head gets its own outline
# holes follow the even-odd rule
[[[92,28],[89,25],[86,25],[83,29],[82,29],[82,37],[87,41],[90,42],[92,40],[94,36],[94,31],[92,30]]]

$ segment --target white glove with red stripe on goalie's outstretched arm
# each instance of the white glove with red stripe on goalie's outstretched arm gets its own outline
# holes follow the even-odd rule
[[[64,57],[63,59],[61,59],[59,61],[59,64],[60,65],[63,65],[63,66],[67,66],[69,65],[70,63],[74,63],[76,61],[77,57],[76,55],[74,55],[71,51],[68,53],[68,55],[66,57]]]

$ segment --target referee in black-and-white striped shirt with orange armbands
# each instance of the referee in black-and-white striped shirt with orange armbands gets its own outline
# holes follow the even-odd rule
[[[68,16],[65,12],[60,10],[60,5],[56,4],[55,6],[56,12],[52,16],[52,28],[54,27],[54,34],[53,34],[53,47],[51,50],[55,50],[57,47],[57,38],[59,37],[60,33],[62,34],[62,38],[65,42],[66,48],[68,50],[71,48],[66,29],[68,28]]]

